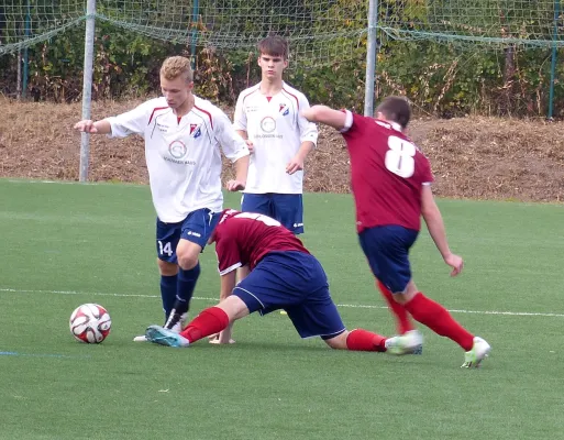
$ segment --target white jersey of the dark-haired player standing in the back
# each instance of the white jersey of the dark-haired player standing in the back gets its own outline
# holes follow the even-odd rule
[[[285,82],[270,99],[261,92],[259,84],[241,92],[233,127],[246,131],[254,144],[244,193],[302,193],[303,172],[290,176],[286,165],[302,142],[317,144],[316,124],[300,114],[307,108],[306,96]]]

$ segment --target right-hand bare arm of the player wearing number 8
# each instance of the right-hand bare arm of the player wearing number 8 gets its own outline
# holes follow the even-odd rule
[[[430,185],[424,185],[421,191],[421,215],[427,223],[427,229],[441,253],[444,262],[453,268],[451,276],[456,276],[462,272],[464,262],[462,257],[451,252],[446,240],[446,231],[444,228],[443,217],[436,202],[434,201],[433,191]]]

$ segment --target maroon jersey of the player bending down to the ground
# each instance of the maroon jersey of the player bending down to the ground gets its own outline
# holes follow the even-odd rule
[[[221,275],[247,264],[253,270],[270,252],[309,254],[301,241],[277,220],[254,212],[224,210],[213,237]]]

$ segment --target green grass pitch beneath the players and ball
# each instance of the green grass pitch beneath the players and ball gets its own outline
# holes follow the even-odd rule
[[[392,333],[351,196],[305,204],[303,241],[345,324]],[[233,346],[133,343],[163,319],[148,188],[0,180],[0,439],[564,438],[564,208],[440,207],[465,273],[451,278],[423,231],[414,277],[490,342],[478,370],[460,369],[462,350],[427,329],[422,356],[338,352],[300,340],[279,314],[237,322]],[[208,249],[192,316],[218,294]],[[111,315],[100,345],[69,333],[84,302]]]

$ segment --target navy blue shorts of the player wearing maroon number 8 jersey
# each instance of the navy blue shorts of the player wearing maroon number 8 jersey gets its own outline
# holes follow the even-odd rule
[[[411,279],[409,250],[418,234],[399,226],[369,228],[358,234],[372,273],[392,294],[402,294]]]

